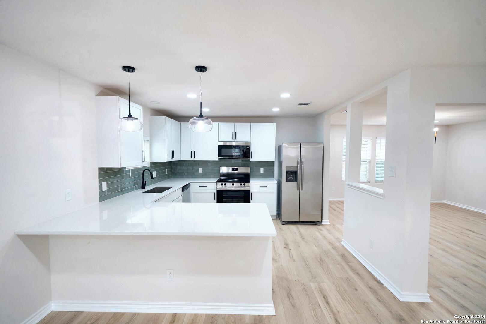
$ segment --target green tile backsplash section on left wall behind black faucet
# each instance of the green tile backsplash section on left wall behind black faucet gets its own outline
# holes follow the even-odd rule
[[[142,171],[156,171],[157,176],[150,179],[150,173],[145,172],[147,186],[172,178],[172,162],[151,162],[150,166],[135,169],[98,168],[98,190],[100,202],[137,190],[142,185]],[[165,174],[167,169],[167,174]],[[106,181],[106,191],[102,191],[102,182]]]

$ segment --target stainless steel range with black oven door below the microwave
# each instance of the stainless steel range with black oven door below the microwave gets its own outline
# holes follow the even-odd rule
[[[220,167],[217,203],[250,203],[250,167]]]

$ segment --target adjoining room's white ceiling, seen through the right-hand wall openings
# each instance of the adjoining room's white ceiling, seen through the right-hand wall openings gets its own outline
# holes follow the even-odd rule
[[[386,125],[386,92],[363,102],[363,125]],[[343,108],[345,109],[345,108]],[[486,105],[435,105],[435,125],[455,125],[486,120]],[[331,125],[346,125],[346,113],[331,115]]]

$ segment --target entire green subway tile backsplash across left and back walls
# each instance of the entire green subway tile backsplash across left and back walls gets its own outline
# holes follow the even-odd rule
[[[125,168],[98,168],[98,190],[100,202],[137,190],[142,184],[143,169],[156,171],[155,179],[145,172],[147,186],[170,178],[208,178],[219,177],[219,167],[250,167],[250,178],[274,176],[274,161],[249,161],[238,159],[220,159],[219,161],[181,160],[174,162],[151,162],[150,166],[126,170]],[[199,172],[203,168],[203,172]],[[263,168],[263,173],[260,173]],[[167,174],[165,174],[167,169]],[[102,191],[102,182],[106,181],[106,191]]]

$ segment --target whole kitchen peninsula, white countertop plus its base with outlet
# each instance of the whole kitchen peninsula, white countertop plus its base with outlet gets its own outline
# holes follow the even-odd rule
[[[275,314],[265,204],[156,202],[210,180],[166,180],[18,230],[49,235],[52,309]]]

